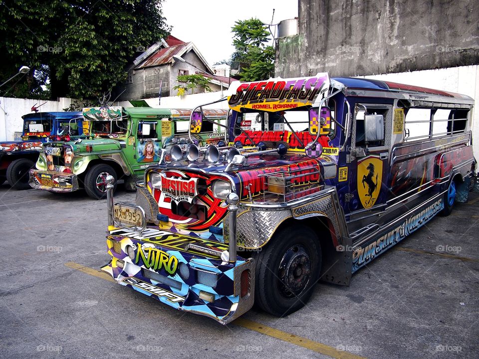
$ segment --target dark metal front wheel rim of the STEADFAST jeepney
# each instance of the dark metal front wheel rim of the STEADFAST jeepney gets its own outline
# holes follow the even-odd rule
[[[301,294],[311,278],[311,258],[302,245],[289,248],[278,268],[279,292],[284,298]]]

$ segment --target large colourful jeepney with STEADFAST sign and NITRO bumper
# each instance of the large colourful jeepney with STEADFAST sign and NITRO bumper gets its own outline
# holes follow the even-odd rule
[[[229,144],[172,146],[134,205],[108,192],[119,284],[223,324],[282,317],[468,198],[468,96],[326,73],[229,92]]]

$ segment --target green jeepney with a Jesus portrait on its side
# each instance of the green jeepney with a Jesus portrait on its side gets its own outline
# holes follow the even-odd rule
[[[30,171],[29,183],[51,192],[84,188],[90,197],[99,199],[105,196],[105,178],[111,175],[117,179],[115,183],[123,181],[134,190],[135,181],[143,178],[145,169],[160,161],[165,143],[201,145],[207,139],[220,139],[213,130],[191,141],[181,131],[175,133],[178,123],[189,125],[191,114],[188,109],[85,108],[83,118],[90,122],[89,137],[44,144],[36,169]],[[212,113],[211,117],[226,122],[226,111]]]

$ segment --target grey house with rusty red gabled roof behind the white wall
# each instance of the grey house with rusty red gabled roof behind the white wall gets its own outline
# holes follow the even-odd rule
[[[229,77],[215,75],[193,42],[184,42],[171,35],[134,59],[127,71],[128,78],[123,86],[126,90],[120,95],[120,101],[159,97],[160,87],[161,97],[175,96],[174,87],[182,84],[177,80],[179,75],[202,74],[209,79],[213,91],[227,89],[231,83]],[[204,89],[191,89],[185,94],[200,92]]]

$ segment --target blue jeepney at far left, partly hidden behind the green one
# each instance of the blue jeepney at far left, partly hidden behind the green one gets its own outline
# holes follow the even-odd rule
[[[30,188],[28,171],[38,159],[42,143],[88,131],[81,112],[38,112],[22,119],[22,141],[0,142],[0,184],[6,179],[13,189]]]

